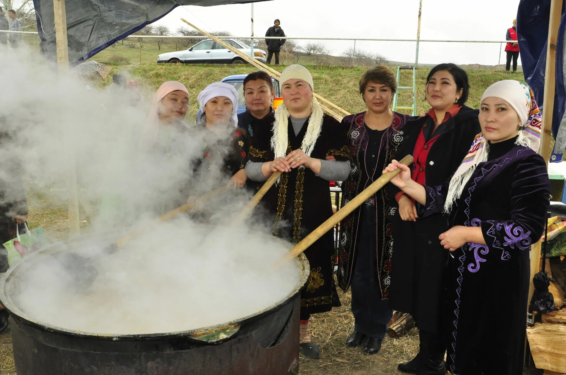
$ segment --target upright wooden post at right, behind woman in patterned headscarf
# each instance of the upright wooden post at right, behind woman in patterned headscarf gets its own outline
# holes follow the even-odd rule
[[[542,132],[541,147],[539,154],[544,158],[548,165],[550,158],[550,137],[552,136],[552,112],[554,111],[554,91],[556,83],[556,44],[558,43],[558,27],[562,16],[563,0],[552,0],[550,4],[550,23],[548,23],[548,46],[546,50],[546,72],[544,73],[544,106],[542,108]],[[541,244],[539,240],[531,246],[530,252],[530,285],[529,299],[533,298],[534,284],[533,277],[540,271]],[[527,309],[529,308],[527,304]]]

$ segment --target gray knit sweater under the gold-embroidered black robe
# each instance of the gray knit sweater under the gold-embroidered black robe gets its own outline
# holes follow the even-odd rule
[[[308,117],[302,119],[297,119],[293,116],[290,117],[291,124],[293,125],[293,131],[295,136],[299,134],[303,125],[307,122]],[[267,178],[263,176],[261,172],[261,165],[263,162],[252,162],[248,161],[246,164],[246,174],[248,178],[252,181],[267,181]],[[332,160],[320,159],[320,173],[316,176],[327,181],[344,181],[350,175],[350,162],[337,162]]]

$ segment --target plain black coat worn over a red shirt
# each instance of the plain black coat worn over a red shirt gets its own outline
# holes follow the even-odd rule
[[[427,150],[427,185],[443,184],[456,172],[474,137],[481,132],[478,113],[478,110],[464,106],[456,116],[437,129],[438,138]],[[397,150],[399,158],[414,155],[419,134],[424,128],[432,126],[434,123],[428,116],[407,121],[403,143]],[[432,136],[436,137],[436,134]],[[415,168],[415,164],[411,168]],[[397,191],[397,187],[391,186],[389,195],[393,197]],[[440,328],[443,270],[447,261],[447,254],[438,236],[446,229],[446,218],[441,215],[421,218],[416,222],[402,221],[398,212],[393,216],[395,242],[389,307],[410,313],[419,329],[433,333],[439,332]]]

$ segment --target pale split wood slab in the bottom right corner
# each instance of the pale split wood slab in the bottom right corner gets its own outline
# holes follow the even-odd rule
[[[566,325],[535,324],[527,338],[538,369],[566,372]]]

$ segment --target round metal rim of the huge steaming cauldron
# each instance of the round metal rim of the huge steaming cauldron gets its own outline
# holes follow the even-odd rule
[[[85,237],[81,237],[78,239],[84,240]],[[288,243],[287,241],[284,241],[283,239],[277,237],[270,236],[269,239],[271,239],[272,241],[282,241]],[[70,239],[68,241],[55,243],[52,246],[43,248],[33,254],[28,255],[26,257],[27,258],[26,260],[33,259],[36,256],[40,256],[41,254],[46,254],[49,252],[62,252],[61,249],[59,248],[59,246],[61,246],[62,243],[67,244],[68,242],[73,242],[76,240],[77,239]],[[216,332],[218,330],[221,330],[222,328],[228,328],[230,326],[235,326],[235,325],[241,326],[243,324],[246,324],[247,322],[258,320],[261,317],[264,317],[265,315],[275,312],[278,309],[285,306],[286,302],[288,302],[291,298],[293,298],[295,295],[301,292],[301,290],[303,289],[303,287],[305,286],[308,280],[308,276],[310,275],[309,263],[305,254],[299,254],[299,256],[297,257],[297,261],[299,262],[299,268],[301,268],[300,270],[301,278],[299,279],[297,286],[295,286],[294,289],[288,295],[285,296],[285,298],[279,300],[275,304],[272,304],[271,306],[259,312],[256,312],[254,314],[242,318],[234,319],[229,322],[222,322],[220,324],[216,324],[212,326],[201,327],[201,328],[185,330],[185,331],[164,332],[164,333],[144,333],[144,334],[93,333],[93,332],[83,332],[80,330],[67,329],[46,322],[42,322],[40,320],[32,319],[27,315],[27,313],[23,312],[15,303],[12,302],[10,298],[10,293],[7,293],[6,290],[6,285],[10,284],[10,280],[14,278],[14,275],[18,272],[18,269],[21,268],[23,264],[25,264],[25,261],[20,261],[18,264],[14,265],[13,267],[10,267],[6,273],[0,276],[0,302],[2,302],[2,306],[4,306],[4,308],[8,312],[10,312],[12,318],[15,320],[23,322],[24,324],[32,326],[33,328],[45,330],[52,333],[65,334],[71,337],[98,339],[102,341],[132,341],[132,340],[150,341],[150,340],[171,339],[171,338],[190,339],[191,335],[207,333],[207,332]],[[200,342],[197,339],[194,339],[194,341]]]

